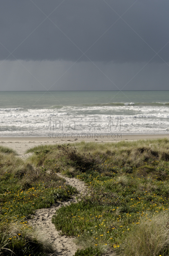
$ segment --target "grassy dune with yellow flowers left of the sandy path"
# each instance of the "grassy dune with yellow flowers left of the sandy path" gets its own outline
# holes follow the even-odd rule
[[[53,170],[35,168],[0,148],[0,255],[42,256],[52,252],[42,230],[28,225],[36,209],[76,193]]]

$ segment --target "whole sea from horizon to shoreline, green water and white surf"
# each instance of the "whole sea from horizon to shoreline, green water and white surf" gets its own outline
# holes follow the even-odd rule
[[[169,91],[0,92],[1,137],[169,133]]]

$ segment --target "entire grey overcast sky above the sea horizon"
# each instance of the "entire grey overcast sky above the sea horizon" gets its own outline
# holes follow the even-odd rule
[[[169,90],[168,0],[1,0],[0,90]]]

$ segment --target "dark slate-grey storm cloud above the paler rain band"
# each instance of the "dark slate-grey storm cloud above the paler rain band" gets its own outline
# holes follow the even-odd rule
[[[0,59],[13,52],[21,60],[149,61],[169,41],[168,0],[61,2],[1,0]],[[43,12],[47,16],[53,12],[51,20]],[[83,52],[89,59],[81,57]],[[159,55],[169,61],[169,44]],[[8,60],[14,57],[10,55]],[[154,61],[162,62],[158,56]]]

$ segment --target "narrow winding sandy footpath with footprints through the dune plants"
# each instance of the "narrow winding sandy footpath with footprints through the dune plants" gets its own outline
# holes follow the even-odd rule
[[[79,191],[79,193],[83,193],[85,190],[85,184],[83,181],[80,181],[75,178],[66,178],[61,174],[57,174],[61,178],[66,180],[66,184],[71,185]],[[51,208],[39,209],[36,210],[35,216],[33,220],[29,220],[29,223],[34,226],[39,226],[43,232],[46,234],[46,237],[49,241],[52,242],[55,253],[53,255],[60,256],[73,256],[77,251],[78,247],[74,243],[74,237],[68,236],[60,236],[59,231],[55,229],[54,224],[52,224],[52,216],[55,214],[56,210],[60,207],[63,207],[72,202],[76,202],[75,196],[67,202],[63,202],[61,204],[53,205]]]

